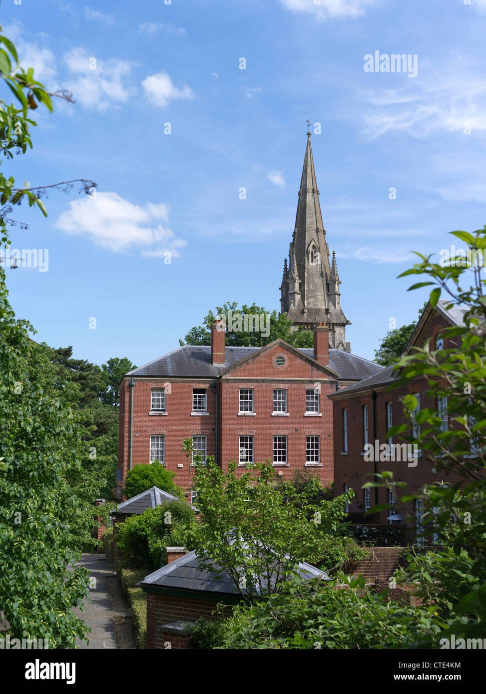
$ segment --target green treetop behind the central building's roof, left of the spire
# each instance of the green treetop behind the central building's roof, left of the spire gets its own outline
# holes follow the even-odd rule
[[[228,319],[229,312],[231,312],[231,321]],[[241,307],[238,307],[235,301],[227,301],[222,306],[217,306],[216,313],[209,311],[206,318],[203,320],[203,325],[194,325],[187,335],[185,335],[184,340],[179,340],[179,344],[181,346],[184,344],[210,345],[211,325],[218,315],[224,316],[224,321],[228,328],[226,331],[226,346],[263,347],[278,338],[285,340],[294,347],[310,348],[314,345],[312,332],[303,330],[300,326],[296,330],[292,330],[293,323],[287,318],[287,314],[277,314],[276,311],[268,312],[264,307],[257,306],[255,303],[251,306],[243,304]],[[233,328],[233,325],[235,325],[235,328],[238,327],[236,325],[238,316],[245,315],[268,316],[268,319],[265,319],[263,329],[261,322],[259,323],[260,330],[258,331],[251,332],[248,330],[245,332],[244,330],[229,330],[230,327]],[[234,321],[236,321],[236,323]],[[264,335],[265,332],[267,332],[268,335]]]

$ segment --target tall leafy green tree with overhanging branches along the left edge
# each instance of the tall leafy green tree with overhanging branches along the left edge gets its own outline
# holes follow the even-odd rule
[[[32,147],[28,110],[51,96],[34,80],[33,69],[19,67],[15,46],[0,36],[0,76],[18,99],[0,105],[0,151],[8,161]],[[58,94],[69,99],[69,95]],[[47,187],[15,187],[0,173],[1,244],[7,225],[26,225],[8,217],[27,201],[47,214],[40,199]],[[85,190],[92,182],[81,180]],[[77,416],[79,390],[51,364],[47,345],[28,337],[30,323],[15,318],[8,302],[6,273],[0,264],[0,605],[15,638],[49,638],[51,648],[75,648],[87,627],[72,607],[88,593],[88,573],[68,570],[90,542],[85,499],[69,484],[86,455],[84,428]],[[92,489],[92,493],[96,493]]]

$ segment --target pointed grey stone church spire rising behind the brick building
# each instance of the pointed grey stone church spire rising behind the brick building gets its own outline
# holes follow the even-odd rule
[[[350,352],[351,347],[346,342],[346,325],[350,321],[341,309],[340,284],[334,251],[332,262],[329,262],[310,133],[307,133],[289,263],[287,266],[285,258],[283,265],[280,311],[287,313],[294,325],[303,325],[308,330],[316,323],[326,323],[330,328],[330,348]]]

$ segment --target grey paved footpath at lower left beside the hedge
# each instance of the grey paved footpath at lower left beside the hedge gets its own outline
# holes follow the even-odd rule
[[[108,564],[102,552],[86,552],[81,555],[81,561],[74,566],[84,566],[90,572],[92,588],[90,599],[85,600],[84,611],[76,607],[74,612],[88,627],[91,627],[89,645],[85,641],[76,639],[78,648],[118,648],[115,638],[115,625],[113,624],[110,593],[108,591],[107,576],[113,574],[112,564]]]

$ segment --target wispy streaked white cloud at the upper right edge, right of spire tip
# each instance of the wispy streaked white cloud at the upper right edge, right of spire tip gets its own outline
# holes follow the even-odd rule
[[[486,78],[480,67],[461,56],[439,73],[426,65],[420,81],[363,96],[371,104],[363,114],[365,130],[373,137],[389,131],[414,137],[464,133],[468,127],[474,134],[486,132]]]

